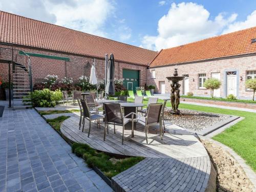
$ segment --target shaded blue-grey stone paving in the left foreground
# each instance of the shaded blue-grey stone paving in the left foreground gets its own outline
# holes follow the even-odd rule
[[[34,110],[0,118],[0,191],[112,191]]]

